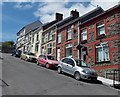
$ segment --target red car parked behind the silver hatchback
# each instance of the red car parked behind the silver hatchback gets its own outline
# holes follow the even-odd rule
[[[58,61],[52,55],[40,55],[37,58],[37,65],[45,66],[46,68],[56,68]]]

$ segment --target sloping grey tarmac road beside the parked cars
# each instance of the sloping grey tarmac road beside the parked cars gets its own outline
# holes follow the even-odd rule
[[[118,91],[98,82],[77,81],[56,70],[37,66],[10,54],[3,54],[3,95],[118,95]]]

